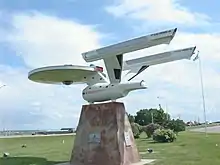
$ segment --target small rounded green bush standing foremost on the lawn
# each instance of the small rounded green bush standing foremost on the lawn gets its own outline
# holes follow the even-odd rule
[[[157,129],[153,133],[153,140],[159,143],[173,142],[176,134],[170,129]]]

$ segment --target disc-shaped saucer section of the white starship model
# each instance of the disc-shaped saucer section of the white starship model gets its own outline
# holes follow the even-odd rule
[[[34,69],[29,72],[28,78],[38,83],[58,85],[108,83],[105,75],[98,72],[94,67],[77,65],[49,66]]]

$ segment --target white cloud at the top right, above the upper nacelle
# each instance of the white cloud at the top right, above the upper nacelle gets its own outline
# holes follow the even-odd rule
[[[106,11],[116,17],[150,21],[161,24],[201,25],[209,24],[206,14],[190,11],[181,6],[178,0],[117,0],[106,7]]]

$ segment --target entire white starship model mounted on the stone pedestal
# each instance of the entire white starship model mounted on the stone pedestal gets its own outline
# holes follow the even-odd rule
[[[35,69],[28,74],[32,81],[47,84],[78,84],[86,83],[88,86],[82,91],[82,97],[89,103],[116,101],[123,98],[133,90],[146,89],[146,84],[132,82],[134,77],[151,65],[166,62],[190,59],[194,54],[195,47],[163,52],[123,62],[123,54],[148,48],[159,44],[169,44],[173,39],[176,28],[168,31],[150,34],[144,37],[125,41],[112,46],[107,46],[94,51],[82,53],[87,62],[103,59],[108,78],[103,73],[103,68],[95,65],[76,66],[61,65]],[[123,70],[136,73],[127,82],[121,83]]]

